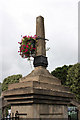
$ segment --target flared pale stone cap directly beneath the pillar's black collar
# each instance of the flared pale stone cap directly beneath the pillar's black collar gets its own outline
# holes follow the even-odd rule
[[[36,67],[28,76],[20,79],[20,82],[38,81],[54,85],[61,85],[61,80],[54,77],[44,67]]]

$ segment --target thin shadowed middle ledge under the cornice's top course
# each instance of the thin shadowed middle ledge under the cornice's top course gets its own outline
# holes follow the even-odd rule
[[[31,100],[31,99],[39,99],[39,100],[58,100],[58,101],[69,101],[69,98],[66,97],[60,97],[57,96],[50,96],[50,95],[38,95],[38,94],[29,94],[29,95],[17,95],[17,96],[11,96],[11,97],[5,97],[4,100],[9,100],[9,101],[17,101],[17,100]]]

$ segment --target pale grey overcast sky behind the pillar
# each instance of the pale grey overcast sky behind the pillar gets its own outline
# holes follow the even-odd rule
[[[0,81],[34,69],[19,56],[18,42],[21,35],[35,35],[39,15],[49,39],[47,69],[78,62],[78,0],[0,0]]]

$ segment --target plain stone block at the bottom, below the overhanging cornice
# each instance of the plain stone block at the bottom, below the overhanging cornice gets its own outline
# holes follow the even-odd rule
[[[22,112],[22,109],[24,112]],[[67,106],[63,105],[32,104],[12,106],[13,113],[16,110],[21,114],[25,114],[20,116],[21,118],[68,118]]]

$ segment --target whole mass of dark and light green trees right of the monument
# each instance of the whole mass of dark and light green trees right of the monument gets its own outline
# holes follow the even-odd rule
[[[63,85],[68,86],[76,99],[80,101],[80,63],[58,67],[51,74],[59,78]]]

